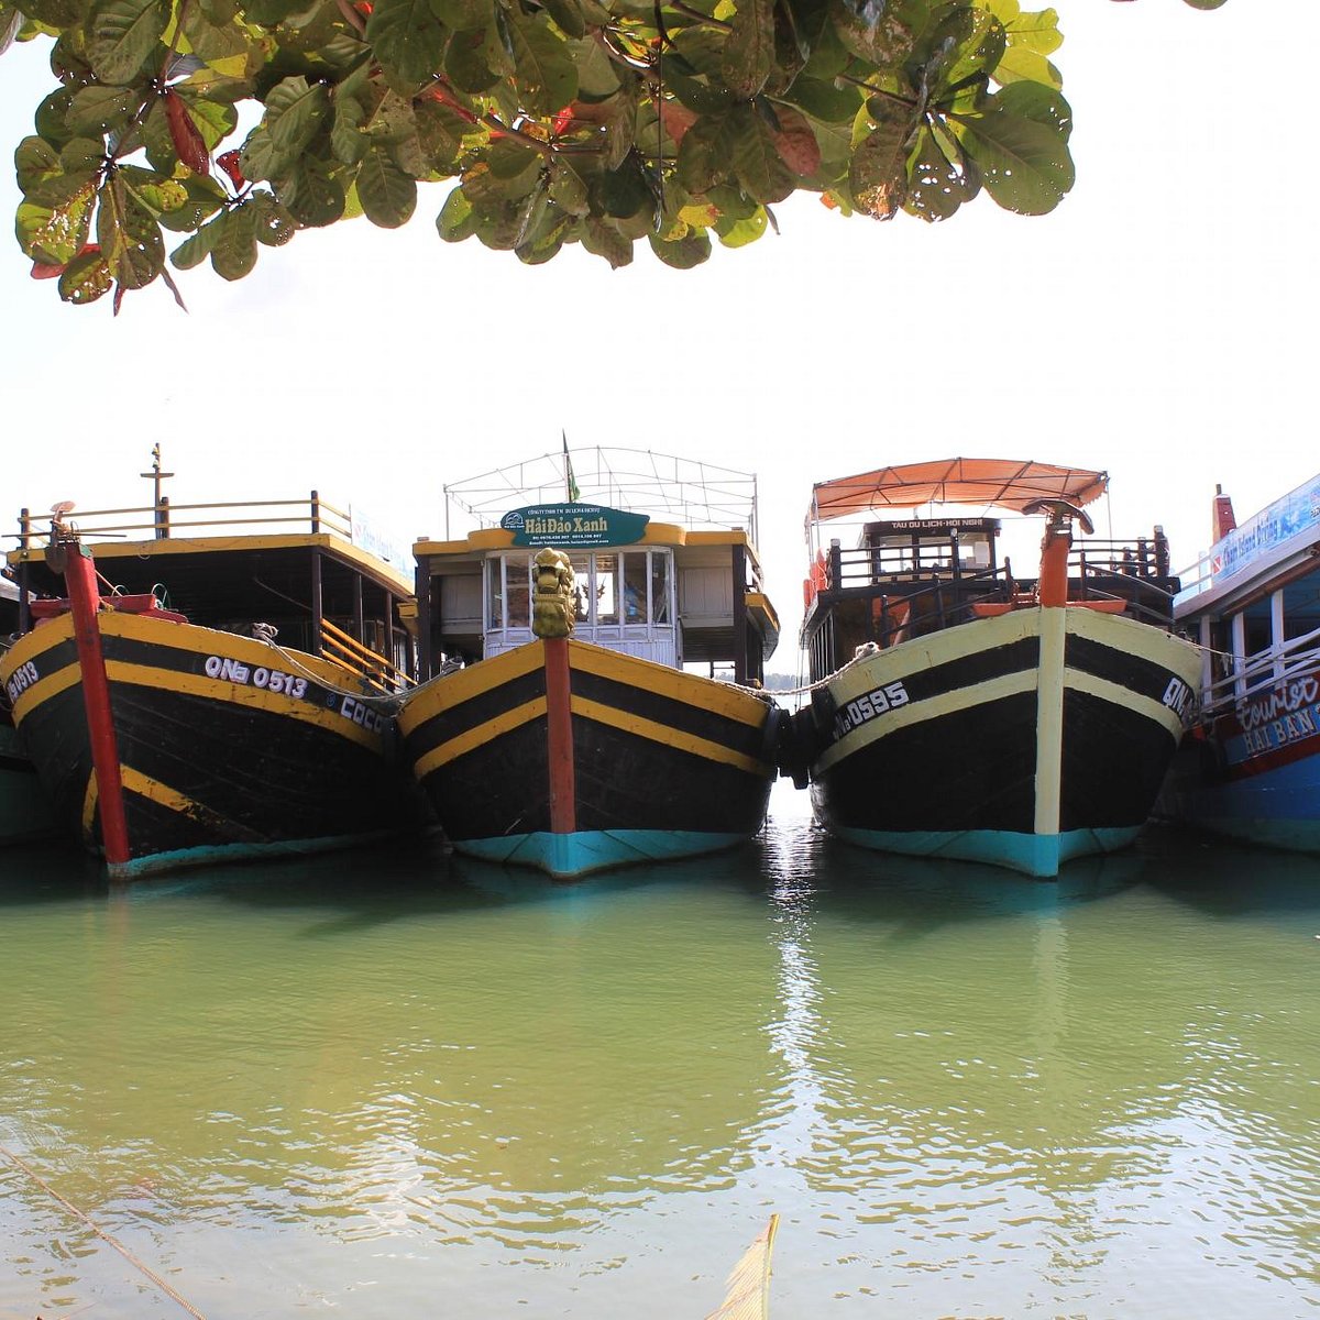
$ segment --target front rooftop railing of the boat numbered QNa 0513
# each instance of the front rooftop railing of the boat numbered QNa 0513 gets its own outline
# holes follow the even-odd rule
[[[18,512],[18,545],[42,545],[50,533],[54,510],[48,513]],[[318,491],[292,500],[244,500],[240,504],[174,504],[162,495],[154,504],[137,508],[94,508],[63,512],[66,525],[87,541],[168,540],[173,536],[243,533],[326,533],[354,544],[354,519],[348,510],[323,500]]]

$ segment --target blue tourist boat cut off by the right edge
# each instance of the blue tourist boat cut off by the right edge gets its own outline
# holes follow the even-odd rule
[[[1320,477],[1241,525],[1217,491],[1213,536],[1173,606],[1204,648],[1200,713],[1158,814],[1320,851]]]

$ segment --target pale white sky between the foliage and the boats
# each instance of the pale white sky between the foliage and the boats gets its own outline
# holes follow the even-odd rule
[[[1028,8],[1028,5],[1024,5]],[[160,442],[176,503],[317,487],[400,541],[442,535],[441,487],[560,445],[755,471],[760,552],[796,669],[810,484],[958,454],[1105,469],[1097,533],[1162,523],[1205,546],[1214,483],[1239,519],[1316,471],[1320,183],[1315,0],[1056,0],[1078,181],[1022,218],[979,198],[928,227],[776,207],[772,234],[677,272],[644,244],[611,272],[442,243],[445,195],[403,231],[366,220],[59,302],[7,223],[0,523],[58,499],[141,504]],[[53,86],[49,44],[0,57],[4,152]],[[16,205],[12,168],[0,207]],[[173,244],[172,244],[173,246]]]

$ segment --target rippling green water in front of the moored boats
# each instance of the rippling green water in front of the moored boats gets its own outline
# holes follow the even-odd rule
[[[0,1320],[1320,1315],[1320,863],[0,855]]]

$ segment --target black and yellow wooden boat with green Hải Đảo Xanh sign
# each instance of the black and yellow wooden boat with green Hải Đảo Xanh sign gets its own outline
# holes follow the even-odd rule
[[[399,717],[454,849],[557,878],[755,834],[780,730],[755,480],[623,449],[578,467],[446,487],[477,525],[413,546],[437,672]]]

